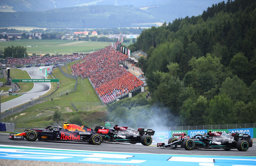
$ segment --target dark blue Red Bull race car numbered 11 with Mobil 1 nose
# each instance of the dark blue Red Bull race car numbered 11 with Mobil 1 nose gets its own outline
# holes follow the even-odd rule
[[[45,129],[26,129],[23,133],[11,133],[10,139],[24,139],[29,141],[84,141],[90,144],[100,145],[102,137],[96,134],[93,129],[79,124],[68,124],[65,122],[63,127],[48,126]]]

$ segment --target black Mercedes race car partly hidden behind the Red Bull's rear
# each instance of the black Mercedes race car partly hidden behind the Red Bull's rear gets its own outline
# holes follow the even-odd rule
[[[131,127],[120,127],[115,125],[114,129],[108,129],[103,126],[96,126],[94,131],[100,134],[103,142],[129,142],[131,144],[141,143],[148,146],[152,144],[151,135],[155,131],[151,129],[132,129]]]

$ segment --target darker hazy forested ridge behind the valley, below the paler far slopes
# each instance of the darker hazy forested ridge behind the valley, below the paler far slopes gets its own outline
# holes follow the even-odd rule
[[[162,19],[139,8],[114,5],[65,7],[42,12],[0,12],[0,14],[0,27],[118,28],[133,27],[132,24],[162,22]]]

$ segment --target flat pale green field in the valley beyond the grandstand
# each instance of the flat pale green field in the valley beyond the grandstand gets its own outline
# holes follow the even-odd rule
[[[7,46],[24,46],[27,48],[28,54],[72,54],[73,52],[89,53],[97,51],[106,46],[111,45],[111,42],[95,42],[95,41],[68,41],[68,40],[18,40],[0,42],[0,50],[4,50]],[[130,45],[132,43],[125,43]],[[32,46],[32,47],[27,47]]]

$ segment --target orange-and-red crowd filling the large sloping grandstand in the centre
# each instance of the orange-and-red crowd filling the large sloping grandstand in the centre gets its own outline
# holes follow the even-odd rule
[[[139,78],[119,65],[126,60],[127,55],[107,46],[86,55],[71,67],[75,75],[90,78],[96,93],[107,104],[143,85]]]

